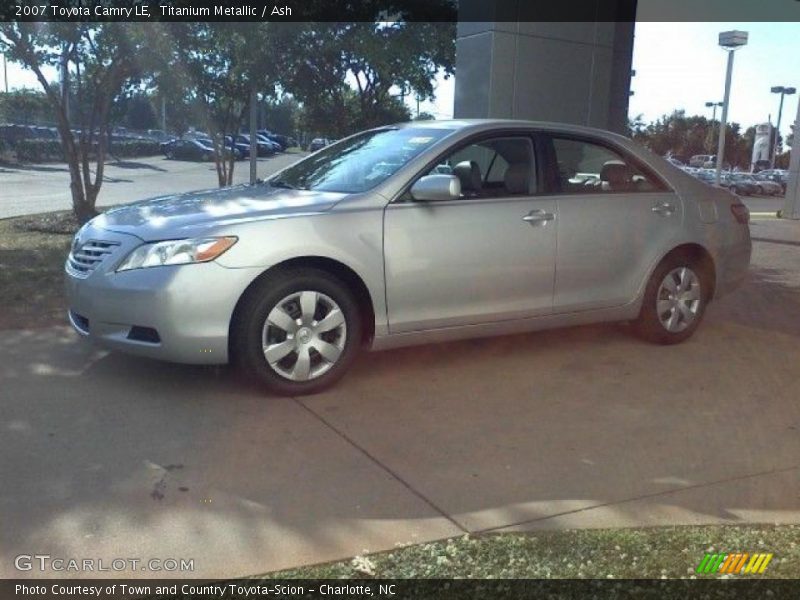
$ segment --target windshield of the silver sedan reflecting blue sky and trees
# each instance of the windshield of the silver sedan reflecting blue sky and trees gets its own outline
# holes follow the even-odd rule
[[[450,133],[450,129],[414,127],[367,131],[320,150],[268,183],[301,190],[364,192]]]

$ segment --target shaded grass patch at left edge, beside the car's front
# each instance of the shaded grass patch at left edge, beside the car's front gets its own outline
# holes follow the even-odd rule
[[[64,261],[71,213],[0,220],[0,329],[66,324]]]

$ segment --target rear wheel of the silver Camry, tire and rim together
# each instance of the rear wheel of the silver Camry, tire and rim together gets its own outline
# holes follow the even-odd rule
[[[708,268],[685,254],[664,258],[647,282],[639,317],[633,323],[639,336],[656,344],[689,339],[703,320],[710,297]]]

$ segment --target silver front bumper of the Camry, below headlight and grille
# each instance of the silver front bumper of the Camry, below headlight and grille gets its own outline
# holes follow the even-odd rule
[[[233,310],[263,269],[208,262],[115,272],[135,245],[123,244],[86,278],[65,273],[73,328],[111,350],[182,363],[228,362]]]

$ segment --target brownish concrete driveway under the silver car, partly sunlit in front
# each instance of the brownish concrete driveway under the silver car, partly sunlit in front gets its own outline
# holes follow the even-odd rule
[[[465,532],[798,523],[800,225],[752,233],[749,281],[684,345],[611,325],[409,348],[302,399],[0,331],[0,577],[97,575],[20,554],[216,578]]]

